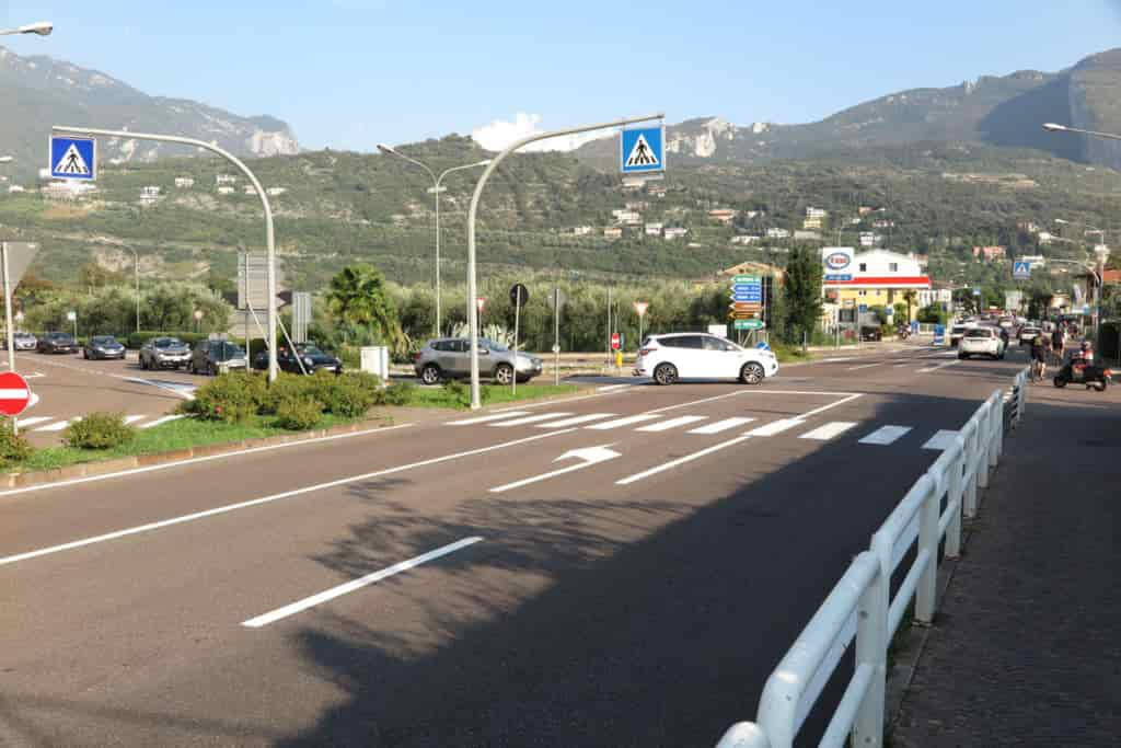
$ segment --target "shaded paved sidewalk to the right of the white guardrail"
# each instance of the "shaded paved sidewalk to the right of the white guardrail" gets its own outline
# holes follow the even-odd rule
[[[1119,395],[1031,387],[888,745],[1121,744]]]

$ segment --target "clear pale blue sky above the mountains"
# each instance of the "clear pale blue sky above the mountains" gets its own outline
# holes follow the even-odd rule
[[[1121,46],[1111,0],[0,0],[0,27],[40,19],[54,36],[2,43],[364,151],[654,111],[805,122]]]

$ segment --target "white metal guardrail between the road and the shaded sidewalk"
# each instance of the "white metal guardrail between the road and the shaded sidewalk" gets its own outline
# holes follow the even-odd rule
[[[733,724],[717,748],[793,748],[853,639],[855,669],[819,745],[843,746],[850,736],[852,746],[883,745],[888,646],[912,599],[917,621],[934,619],[938,545],[945,538],[945,556],[957,557],[962,515],[976,515],[978,489],[988,488],[1003,451],[1003,406],[1009,404],[1016,428],[1027,403],[1027,369],[1017,375],[1008,395],[994,391],[911,487],[767,678],[756,721]],[[891,576],[916,541],[915,560],[892,597]]]

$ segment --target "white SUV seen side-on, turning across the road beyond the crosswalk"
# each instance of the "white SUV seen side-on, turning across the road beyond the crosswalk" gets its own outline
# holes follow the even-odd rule
[[[738,379],[759,385],[778,373],[775,353],[706,333],[650,335],[642,341],[634,362],[636,377],[651,377],[658,385],[678,379]]]

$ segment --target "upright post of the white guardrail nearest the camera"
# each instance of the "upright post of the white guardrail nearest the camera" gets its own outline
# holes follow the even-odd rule
[[[852,726],[852,745],[871,748],[883,745],[884,692],[888,680],[888,576],[882,554],[880,572],[860,595],[856,606],[856,666],[871,665],[874,675]],[[890,557],[888,561],[890,565]]]

